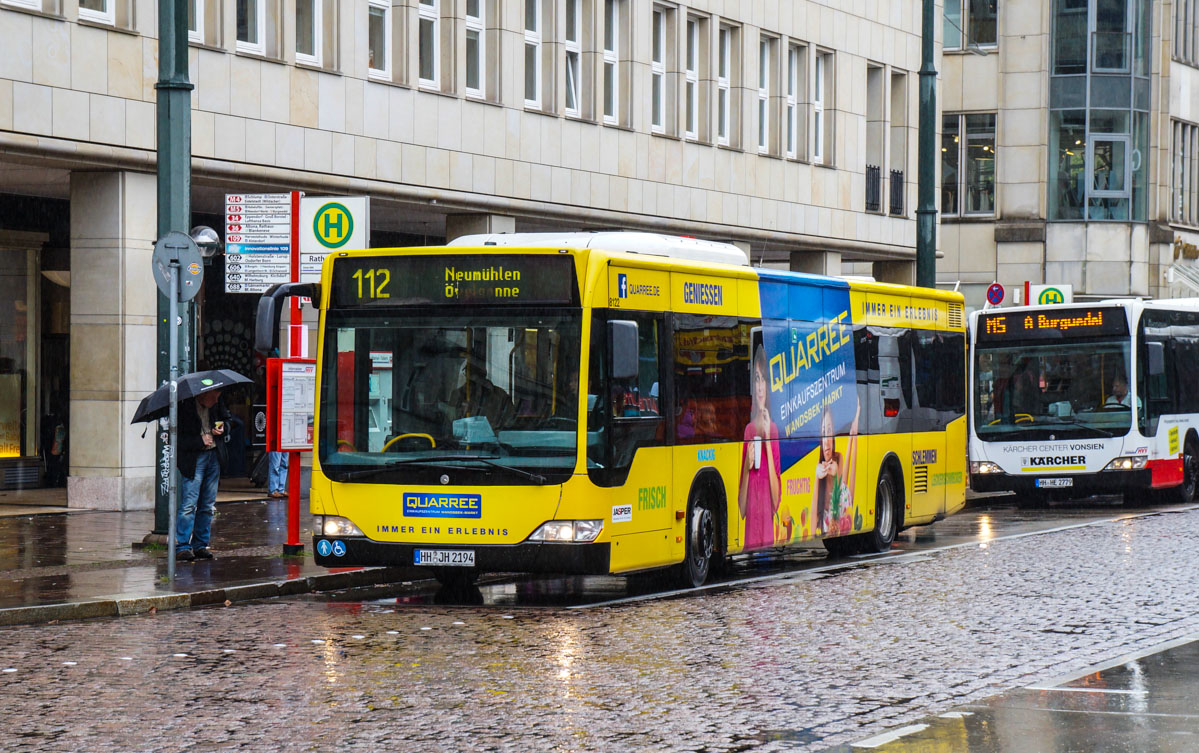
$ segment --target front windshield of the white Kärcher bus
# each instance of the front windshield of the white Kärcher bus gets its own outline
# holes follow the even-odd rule
[[[980,345],[975,433],[983,441],[1122,436],[1132,428],[1129,341]]]

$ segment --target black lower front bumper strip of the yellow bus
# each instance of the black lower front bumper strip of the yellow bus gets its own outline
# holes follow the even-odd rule
[[[327,542],[323,544],[321,542]],[[611,552],[608,543],[520,543],[512,546],[463,547],[408,544],[347,536],[313,536],[313,556],[321,567],[409,566],[416,550],[472,550],[475,568],[486,572],[608,574]]]

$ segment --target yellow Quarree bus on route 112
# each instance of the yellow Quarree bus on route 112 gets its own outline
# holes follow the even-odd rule
[[[634,573],[880,552],[964,504],[962,296],[651,234],[331,254],[311,507],[329,567]]]

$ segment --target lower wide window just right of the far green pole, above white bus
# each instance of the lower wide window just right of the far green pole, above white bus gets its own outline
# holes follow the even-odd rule
[[[941,213],[995,213],[994,113],[942,116]]]

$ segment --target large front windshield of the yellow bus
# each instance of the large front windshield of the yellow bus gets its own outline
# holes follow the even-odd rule
[[[321,470],[363,483],[565,481],[580,323],[578,309],[329,312]]]

